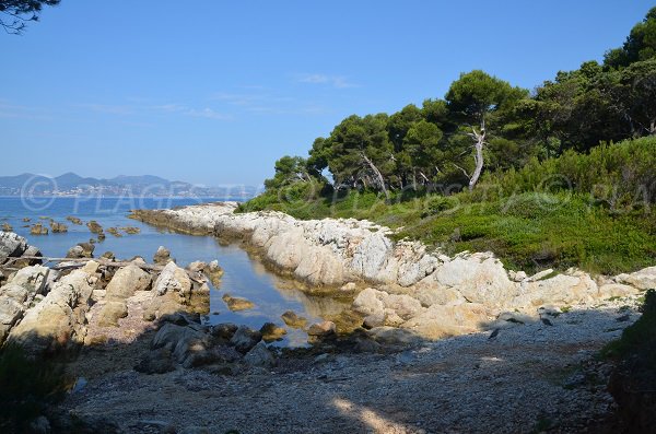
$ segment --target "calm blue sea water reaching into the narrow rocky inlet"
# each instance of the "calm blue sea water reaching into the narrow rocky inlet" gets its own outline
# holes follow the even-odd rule
[[[222,199],[208,198],[202,201],[220,200]],[[184,235],[163,231],[127,218],[131,209],[162,209],[200,202],[198,199],[186,198],[37,198],[23,200],[9,197],[0,198],[0,225],[2,223],[11,224],[13,232],[26,237],[30,244],[37,246],[44,256],[49,257],[65,257],[70,247],[95,237],[86,227],[86,222],[95,220],[105,228],[107,236],[104,242],[96,244],[94,251],[96,257],[109,250],[120,259],[141,256],[151,262],[157,247],[164,246],[171,250],[171,256],[183,267],[195,260],[209,262],[216,259],[225,274],[220,288],[212,288],[210,293],[210,315],[204,318],[209,324],[235,322],[260,328],[265,322],[270,321],[284,326],[280,316],[285,310],[294,310],[312,322],[336,315],[348,307],[329,297],[306,295],[297,290],[293,282],[282,280],[267,271],[259,261],[250,258],[238,246],[222,245],[211,236]],[[66,220],[68,215],[81,219],[84,224],[72,224]],[[49,227],[49,221],[40,219],[42,216],[66,223],[69,232],[31,235],[30,227],[24,226],[40,221]],[[31,221],[23,222],[23,218],[30,218]],[[124,236],[115,237],[107,233],[107,228],[112,226],[136,226],[141,232],[134,235],[121,232]],[[221,298],[225,293],[248,298],[255,303],[255,308],[230,312]],[[285,339],[278,344],[301,347],[307,343],[307,335],[304,331],[286,329]]]

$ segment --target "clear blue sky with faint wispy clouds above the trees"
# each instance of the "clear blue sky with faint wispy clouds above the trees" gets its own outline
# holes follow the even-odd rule
[[[601,59],[653,5],[62,0],[0,34],[0,175],[259,185],[342,118],[483,69],[532,89]]]

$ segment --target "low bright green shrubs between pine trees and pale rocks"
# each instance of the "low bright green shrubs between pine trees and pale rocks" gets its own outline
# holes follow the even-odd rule
[[[589,154],[534,159],[485,176],[472,192],[443,196],[304,183],[268,191],[241,211],[278,210],[298,219],[355,218],[401,228],[447,254],[492,250],[506,266],[617,274],[656,259],[656,138],[604,144]],[[639,195],[639,192],[641,195]]]

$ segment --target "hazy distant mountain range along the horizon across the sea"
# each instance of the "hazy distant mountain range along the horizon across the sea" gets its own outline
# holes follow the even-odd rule
[[[119,175],[110,179],[84,178],[69,172],[54,178],[22,174],[0,176],[0,196],[152,196],[152,197],[214,197],[248,199],[257,193],[256,187],[207,187],[153,175]]]

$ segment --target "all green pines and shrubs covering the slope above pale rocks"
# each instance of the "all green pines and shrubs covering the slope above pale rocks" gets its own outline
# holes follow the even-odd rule
[[[370,219],[508,267],[614,273],[656,259],[656,8],[609,50],[529,93],[483,71],[444,99],[350,116],[283,156],[242,211]]]

